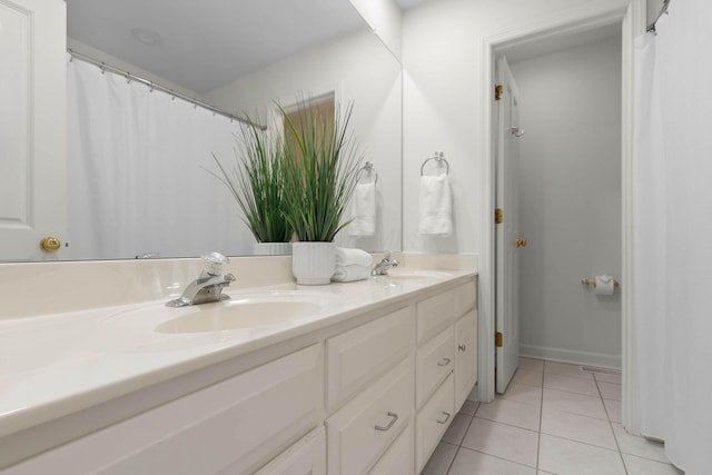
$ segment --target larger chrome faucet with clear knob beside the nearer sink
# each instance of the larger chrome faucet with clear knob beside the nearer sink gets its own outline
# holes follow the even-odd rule
[[[197,279],[188,284],[180,297],[166,304],[168,307],[185,307],[230,298],[229,295],[222,295],[222,289],[235,281],[233,274],[222,274],[222,266],[230,260],[220,253],[205,254],[201,257],[205,269]]]

